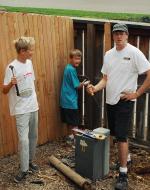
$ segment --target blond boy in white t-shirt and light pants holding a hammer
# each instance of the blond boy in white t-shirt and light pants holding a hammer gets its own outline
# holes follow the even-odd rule
[[[17,58],[6,68],[3,93],[8,94],[10,114],[16,118],[19,139],[20,171],[14,178],[20,182],[29,171],[38,171],[32,161],[38,139],[38,102],[34,86],[32,54],[34,38],[21,37],[14,41]]]

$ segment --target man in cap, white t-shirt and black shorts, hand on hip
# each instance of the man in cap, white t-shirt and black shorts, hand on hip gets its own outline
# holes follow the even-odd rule
[[[106,87],[108,127],[111,136],[117,139],[120,162],[115,189],[127,189],[128,129],[134,101],[150,87],[150,63],[127,42],[129,33],[125,24],[115,24],[112,33],[115,46],[104,56],[103,78],[97,85],[89,85],[87,91],[92,94]],[[142,73],[146,73],[146,79],[137,90],[137,78]]]

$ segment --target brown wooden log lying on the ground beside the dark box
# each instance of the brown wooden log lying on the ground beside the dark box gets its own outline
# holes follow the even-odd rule
[[[49,161],[53,166],[55,166],[59,171],[61,171],[65,176],[67,176],[69,179],[71,179],[73,182],[75,182],[82,189],[90,190],[92,188],[91,184],[85,178],[83,178],[82,176],[77,174],[75,171],[70,169],[68,166],[63,164],[55,156],[53,156],[53,155],[50,156]]]

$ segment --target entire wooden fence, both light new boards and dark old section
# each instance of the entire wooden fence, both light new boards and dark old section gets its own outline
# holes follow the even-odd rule
[[[62,72],[70,49],[81,49],[79,75],[96,84],[101,75],[103,55],[113,46],[111,29],[114,22],[90,19],[43,16],[21,13],[0,13],[0,85],[6,65],[16,56],[12,41],[20,36],[33,36],[36,41],[33,66],[40,105],[39,144],[67,133],[59,115],[59,91]],[[150,25],[128,23],[129,42],[150,59]],[[144,76],[139,78],[139,85]],[[107,127],[105,91],[94,98],[85,90],[79,96],[80,122],[89,129]],[[0,91],[0,156],[17,151],[15,120],[10,117],[8,99]],[[150,145],[150,97],[145,93],[136,103],[130,137]]]

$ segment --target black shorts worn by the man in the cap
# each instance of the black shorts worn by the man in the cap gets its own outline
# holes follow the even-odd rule
[[[133,101],[120,100],[115,105],[107,104],[107,117],[110,135],[120,142],[127,142],[128,131],[133,116]]]

